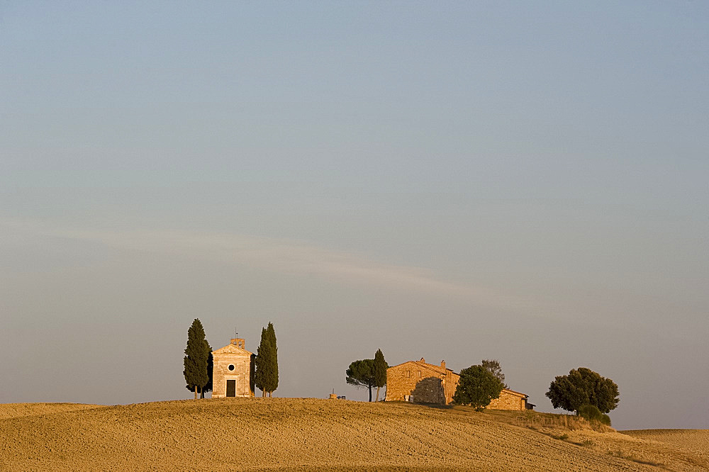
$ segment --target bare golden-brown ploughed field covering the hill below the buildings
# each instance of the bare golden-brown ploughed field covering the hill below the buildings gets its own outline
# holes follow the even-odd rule
[[[0,469],[707,471],[709,430],[312,398],[0,405]]]

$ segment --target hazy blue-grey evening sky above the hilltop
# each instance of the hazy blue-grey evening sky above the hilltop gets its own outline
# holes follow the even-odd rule
[[[282,397],[351,361],[498,359],[552,411],[709,428],[709,4],[0,4],[0,403],[191,398],[278,339]]]

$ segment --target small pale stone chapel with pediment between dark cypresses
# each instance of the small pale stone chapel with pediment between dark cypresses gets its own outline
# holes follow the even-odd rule
[[[241,338],[213,351],[212,398],[254,396],[254,357]]]

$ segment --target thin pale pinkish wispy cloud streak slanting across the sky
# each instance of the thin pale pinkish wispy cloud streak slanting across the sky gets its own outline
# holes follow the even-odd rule
[[[221,232],[184,230],[106,230],[54,227],[45,223],[4,221],[6,228],[33,234],[81,240],[174,257],[231,262],[281,274],[319,276],[342,283],[365,283],[432,295],[461,298],[500,308],[520,307],[523,300],[447,281],[432,269],[382,264],[352,252],[342,252],[293,240]]]

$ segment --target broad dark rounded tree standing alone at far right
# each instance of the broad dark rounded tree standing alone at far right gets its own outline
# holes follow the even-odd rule
[[[571,369],[569,375],[554,378],[546,395],[554,408],[577,413],[583,405],[593,405],[602,413],[608,413],[620,402],[615,382],[586,367]]]

